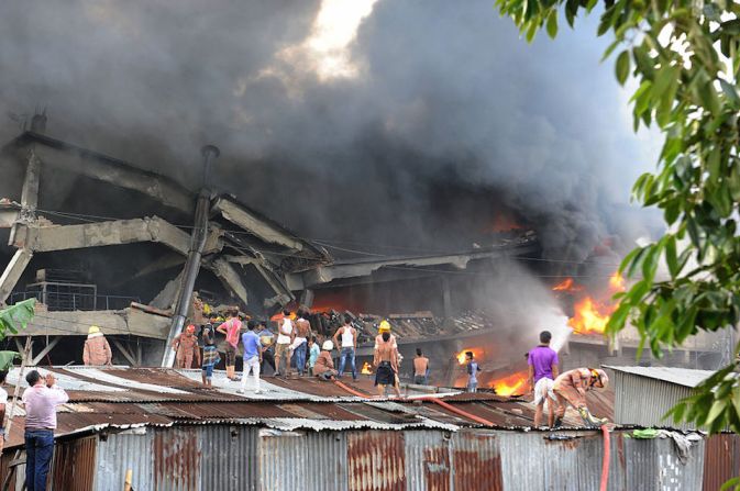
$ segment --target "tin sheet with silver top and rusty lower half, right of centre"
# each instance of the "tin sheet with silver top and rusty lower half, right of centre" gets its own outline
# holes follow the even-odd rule
[[[504,490],[496,435],[486,431],[461,431],[453,435],[452,449],[455,490]]]

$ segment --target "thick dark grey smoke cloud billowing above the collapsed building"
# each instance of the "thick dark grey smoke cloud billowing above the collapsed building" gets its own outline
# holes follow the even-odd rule
[[[380,0],[357,75],[322,79],[298,48],[319,1],[11,2],[0,110],[191,187],[214,143],[218,186],[347,248],[464,247],[506,213],[583,258],[640,169],[625,98],[593,23],[528,46],[493,3]]]

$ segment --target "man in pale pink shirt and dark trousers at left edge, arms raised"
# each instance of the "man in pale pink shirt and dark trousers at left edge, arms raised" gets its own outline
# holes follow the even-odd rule
[[[44,491],[46,475],[54,454],[56,406],[69,400],[67,393],[56,386],[54,375],[31,370],[25,376],[29,388],[23,392],[25,408],[25,489]]]

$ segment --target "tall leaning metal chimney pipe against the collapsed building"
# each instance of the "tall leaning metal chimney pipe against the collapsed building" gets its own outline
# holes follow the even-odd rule
[[[175,315],[169,325],[169,335],[167,336],[167,344],[165,345],[165,353],[162,358],[163,367],[172,367],[175,362],[175,351],[169,349],[169,346],[175,336],[183,332],[183,326],[188,315],[188,308],[190,306],[192,289],[196,286],[198,271],[200,271],[200,259],[202,258],[203,247],[206,247],[206,239],[208,238],[208,216],[210,215],[211,204],[211,192],[208,190],[208,181],[213,159],[221,153],[213,145],[206,145],[200,153],[203,156],[203,188],[200,190],[196,203],[196,219],[192,235],[190,236],[190,250],[183,269],[183,280],[180,282],[177,303],[175,304]]]

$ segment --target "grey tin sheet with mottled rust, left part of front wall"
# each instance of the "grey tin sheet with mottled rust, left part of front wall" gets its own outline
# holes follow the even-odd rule
[[[195,428],[169,428],[154,435],[154,488],[197,490],[200,481]]]

